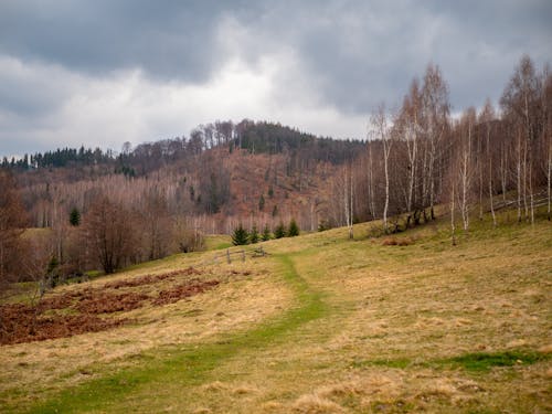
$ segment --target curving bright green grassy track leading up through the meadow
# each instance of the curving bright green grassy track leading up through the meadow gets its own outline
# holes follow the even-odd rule
[[[209,379],[209,373],[225,360],[241,352],[262,350],[283,343],[305,323],[329,312],[321,293],[315,290],[297,273],[289,255],[276,255],[284,279],[294,290],[298,306],[280,317],[256,328],[229,335],[215,343],[164,349],[152,358],[144,358],[140,365],[88,381],[68,389],[30,410],[31,413],[117,411],[121,401],[147,394],[157,399],[167,386],[197,386]],[[166,391],[164,391],[166,392]]]

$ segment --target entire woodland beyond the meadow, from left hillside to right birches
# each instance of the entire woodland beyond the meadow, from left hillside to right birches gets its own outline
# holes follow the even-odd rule
[[[401,103],[367,114],[365,140],[217,120],[189,136],[126,142],[120,152],[82,147],[3,158],[0,280],[113,273],[201,250],[204,234],[238,225],[347,225],[353,237],[353,223],[382,219],[382,231],[394,233],[447,213],[454,243],[470,220],[505,206],[532,223],[546,205],[550,220],[551,107],[550,68],[527,55],[498,107],[487,100],[461,114],[429,64]]]

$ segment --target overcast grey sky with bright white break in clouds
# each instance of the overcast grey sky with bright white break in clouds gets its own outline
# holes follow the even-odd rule
[[[217,119],[364,139],[428,63],[453,112],[552,63],[550,0],[0,0],[0,156],[120,150]]]

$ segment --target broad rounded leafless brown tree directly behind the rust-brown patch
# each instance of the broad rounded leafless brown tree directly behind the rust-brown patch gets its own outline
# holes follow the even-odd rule
[[[106,274],[114,273],[136,256],[138,246],[132,214],[120,203],[100,197],[83,221],[84,240],[92,258]]]

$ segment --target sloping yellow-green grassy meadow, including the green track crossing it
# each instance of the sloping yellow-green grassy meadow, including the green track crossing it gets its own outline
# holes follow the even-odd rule
[[[120,328],[1,347],[0,411],[552,411],[552,224],[477,221],[456,246],[445,221],[393,237],[371,237],[375,225],[357,225],[354,241],[337,229],[266,242],[266,257],[176,255],[85,284],[189,266],[221,282],[105,316],[130,320]]]

